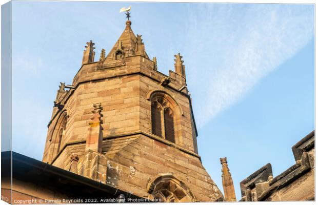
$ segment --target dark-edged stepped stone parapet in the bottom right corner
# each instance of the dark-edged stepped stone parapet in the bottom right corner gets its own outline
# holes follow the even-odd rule
[[[268,163],[241,181],[241,201],[314,200],[314,131],[297,142],[292,151],[296,163],[273,177]]]

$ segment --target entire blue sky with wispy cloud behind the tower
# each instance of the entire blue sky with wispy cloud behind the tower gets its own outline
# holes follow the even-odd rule
[[[95,59],[112,48],[129,5],[158,70],[184,56],[199,154],[222,191],[220,157],[237,199],[267,162],[274,176],[294,164],[291,147],[314,129],[313,5],[13,2],[13,151],[42,159],[59,82],[71,84],[90,39]]]

